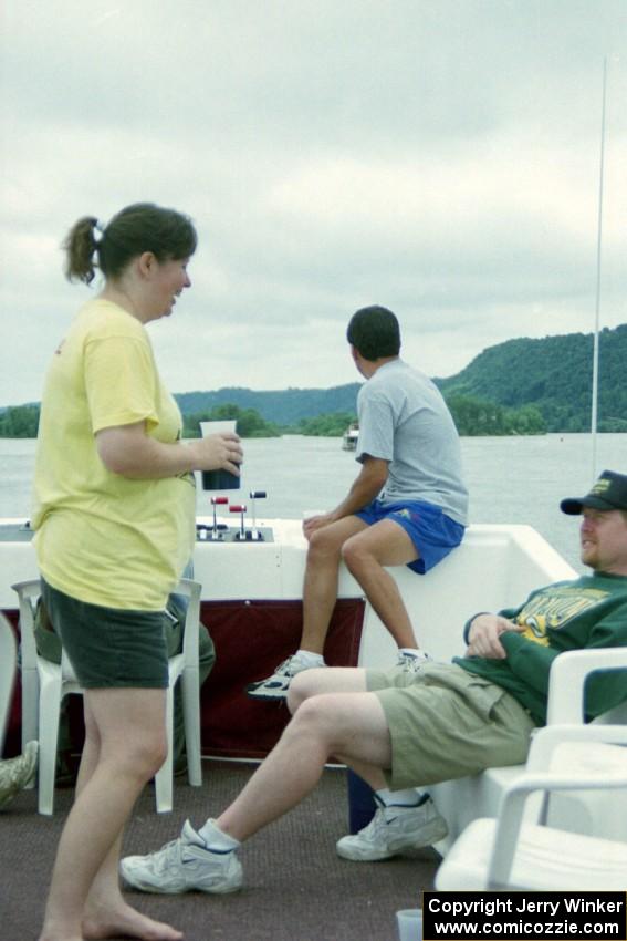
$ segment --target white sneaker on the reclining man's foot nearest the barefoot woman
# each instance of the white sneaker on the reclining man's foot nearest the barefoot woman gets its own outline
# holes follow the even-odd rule
[[[189,820],[180,837],[148,856],[126,856],[119,861],[125,882],[142,892],[234,892],[243,882],[242,865],[234,850],[208,849]]]

